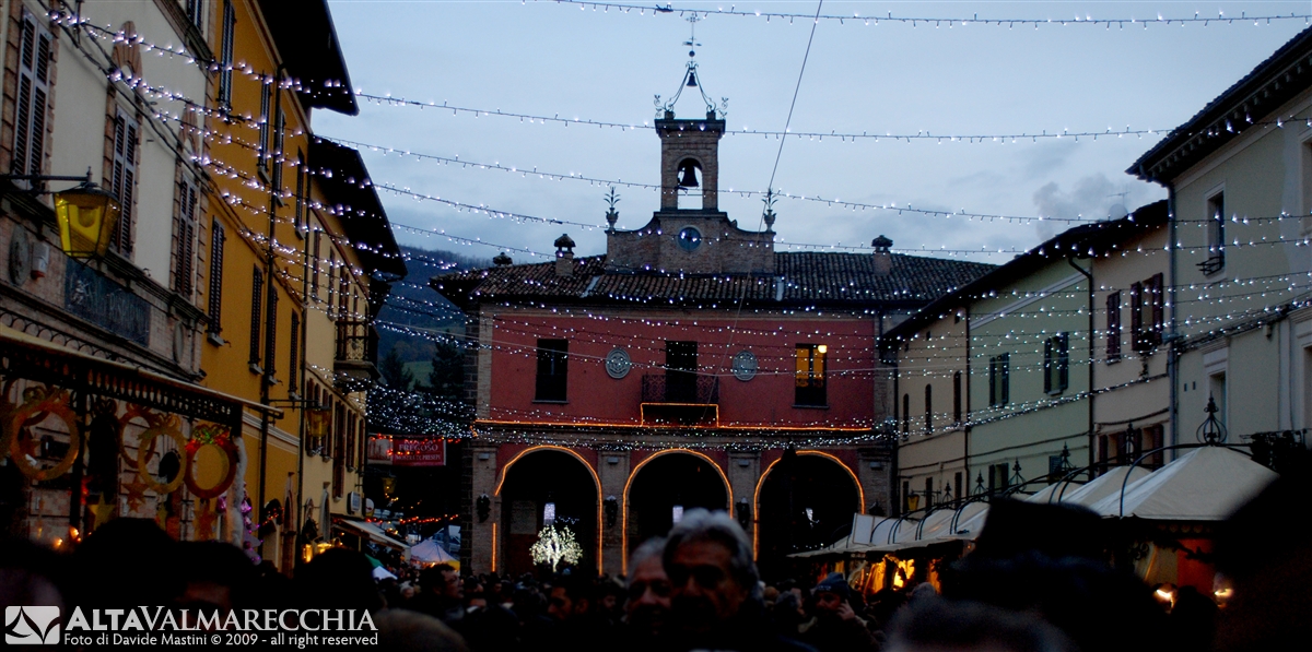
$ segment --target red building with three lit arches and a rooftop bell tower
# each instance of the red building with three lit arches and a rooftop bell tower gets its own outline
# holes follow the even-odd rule
[[[695,67],[687,86],[695,86]],[[830,543],[853,513],[890,509],[884,330],[987,264],[774,250],[718,209],[724,120],[656,120],[660,207],[606,254],[438,276],[468,317],[462,550],[467,568],[522,572],[543,526],[580,564],[623,572],[685,509],[732,513],[770,572]]]

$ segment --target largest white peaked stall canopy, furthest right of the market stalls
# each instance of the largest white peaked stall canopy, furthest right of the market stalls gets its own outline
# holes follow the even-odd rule
[[[1089,505],[1101,516],[1157,521],[1221,521],[1277,478],[1275,471],[1224,446],[1203,446]]]

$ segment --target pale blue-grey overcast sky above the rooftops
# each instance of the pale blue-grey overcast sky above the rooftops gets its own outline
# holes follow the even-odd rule
[[[352,82],[365,93],[530,115],[648,124],[653,96],[680,89],[689,24],[677,13],[639,14],[555,3],[329,0]],[[661,3],[664,4],[664,3]],[[652,5],[647,5],[652,7]],[[815,3],[674,3],[676,9],[816,12]],[[941,18],[1168,18],[1307,14],[1300,3],[1072,1],[854,3],[827,0],[823,13]],[[729,130],[782,131],[811,34],[810,20],[769,22],[708,16],[697,24],[701,81],[728,97]],[[993,135],[1166,130],[1181,124],[1248,73],[1304,21],[1254,25],[933,26],[823,20],[794,109],[792,132]],[[694,89],[687,89],[693,92]],[[685,93],[678,117],[705,114]],[[380,106],[358,117],[315,115],[323,136],[409,149],[520,170],[659,183],[653,131],[541,124],[496,115]],[[1105,216],[1165,196],[1124,174],[1160,136],[1038,143],[890,139],[789,139],[774,187],[794,195],[870,204],[1014,216]],[[583,181],[442,165],[363,149],[375,183],[541,217],[605,226],[606,187]],[[765,190],[779,141],[727,135],[720,189]],[[621,228],[639,228],[657,192],[618,189]],[[1124,195],[1122,195],[1124,194]],[[380,192],[394,223],[539,253],[568,232],[580,254],[605,251],[601,228],[521,224]],[[754,229],[761,202],[722,196],[720,208]],[[960,216],[851,211],[782,199],[781,242],[869,246],[883,233],[896,249],[1027,247],[1063,226]],[[401,244],[491,258],[497,247],[396,230]],[[787,250],[779,246],[779,250]],[[543,261],[512,251],[516,262]],[[1001,263],[1006,255],[971,255]]]

